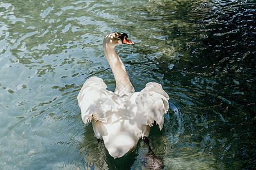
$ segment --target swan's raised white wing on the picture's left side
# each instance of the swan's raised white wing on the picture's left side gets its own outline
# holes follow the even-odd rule
[[[82,121],[87,124],[92,121],[106,122],[113,113],[115,104],[113,92],[106,90],[107,86],[101,78],[93,76],[82,86],[77,100],[81,109]]]

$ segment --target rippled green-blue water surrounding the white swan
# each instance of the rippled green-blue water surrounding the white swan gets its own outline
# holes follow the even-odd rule
[[[115,82],[102,40],[117,47],[135,90],[170,96],[150,142],[165,169],[255,168],[254,1],[0,2],[0,169],[144,169],[143,141],[120,159],[80,118],[90,76]]]

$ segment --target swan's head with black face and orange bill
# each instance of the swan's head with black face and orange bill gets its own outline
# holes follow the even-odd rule
[[[128,35],[126,33],[113,32],[105,37],[103,40],[104,45],[116,46],[118,44],[131,44],[134,42],[127,39]]]

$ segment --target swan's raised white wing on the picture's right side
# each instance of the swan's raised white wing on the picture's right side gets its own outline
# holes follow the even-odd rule
[[[169,109],[168,100],[169,96],[163,90],[161,84],[147,83],[136,98],[138,118],[141,123],[152,126],[156,121],[161,130],[163,128],[164,114]]]

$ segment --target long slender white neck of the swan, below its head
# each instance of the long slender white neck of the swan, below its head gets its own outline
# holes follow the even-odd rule
[[[108,46],[108,43],[103,44],[103,49],[109,65],[112,69],[115,78],[115,93],[119,95],[129,95],[135,92],[133,85],[129,79],[125,65],[118,56],[114,46]]]

